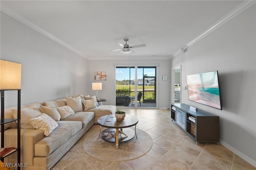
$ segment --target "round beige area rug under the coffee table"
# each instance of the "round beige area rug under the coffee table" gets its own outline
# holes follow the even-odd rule
[[[140,129],[136,129],[138,138],[135,136],[129,141],[120,142],[118,149],[115,142],[98,139],[100,127],[92,129],[93,133],[85,134],[87,136],[84,138],[83,148],[87,154],[99,160],[114,162],[132,160],[146,154],[152,147],[152,138]]]

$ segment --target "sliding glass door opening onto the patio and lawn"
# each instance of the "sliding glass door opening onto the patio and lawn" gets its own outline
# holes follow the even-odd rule
[[[156,66],[116,66],[116,106],[156,107]]]

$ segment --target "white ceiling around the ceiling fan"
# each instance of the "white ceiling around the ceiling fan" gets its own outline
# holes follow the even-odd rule
[[[238,0],[0,1],[1,10],[87,59],[170,59]],[[114,41],[146,44],[124,54]]]

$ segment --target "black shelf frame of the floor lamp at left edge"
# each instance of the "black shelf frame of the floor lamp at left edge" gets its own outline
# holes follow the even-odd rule
[[[7,156],[17,152],[17,164],[20,165],[20,95],[21,95],[21,90],[18,89],[18,117],[17,119],[4,119],[4,91],[6,90],[0,90],[0,96],[1,96],[1,119],[0,119],[0,125],[1,125],[1,148],[4,148],[4,124],[10,123],[13,121],[17,121],[18,128],[17,128],[17,148],[14,148],[15,151],[0,158],[2,162],[4,162],[4,158]],[[18,170],[20,170],[20,166],[17,167]]]

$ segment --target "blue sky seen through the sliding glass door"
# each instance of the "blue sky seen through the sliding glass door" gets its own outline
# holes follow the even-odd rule
[[[144,68],[144,74],[147,76],[155,76],[155,68]],[[130,76],[129,76],[130,74]],[[137,78],[143,78],[143,68],[138,68]],[[135,68],[116,68],[116,80],[134,80],[135,79]]]

